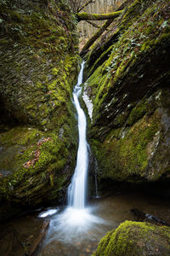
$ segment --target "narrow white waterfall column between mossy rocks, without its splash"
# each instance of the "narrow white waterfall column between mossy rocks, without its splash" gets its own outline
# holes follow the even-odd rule
[[[78,75],[77,85],[73,90],[74,105],[78,116],[78,135],[79,145],[77,151],[77,166],[68,189],[68,204],[70,207],[83,209],[85,207],[87,174],[88,174],[88,143],[86,139],[86,116],[80,107],[78,96],[80,96],[82,87],[84,62],[82,62],[81,71]]]

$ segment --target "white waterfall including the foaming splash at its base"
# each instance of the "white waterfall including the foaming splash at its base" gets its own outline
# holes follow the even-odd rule
[[[68,206],[63,212],[54,215],[49,224],[48,236],[45,243],[51,241],[72,242],[89,238],[89,230],[94,224],[101,224],[104,221],[94,216],[92,207],[85,207],[87,179],[88,179],[88,143],[86,139],[86,116],[83,112],[78,97],[82,91],[82,74],[84,62],[78,75],[77,85],[73,90],[74,105],[77,109],[79,145],[77,150],[77,166],[68,188]],[[50,212],[43,212],[47,216]],[[98,229],[98,228],[96,228]],[[95,230],[95,228],[94,228]]]

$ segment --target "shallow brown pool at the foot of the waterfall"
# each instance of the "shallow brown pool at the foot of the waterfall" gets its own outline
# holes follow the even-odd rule
[[[135,192],[122,192],[90,201],[84,223],[80,230],[74,225],[77,215],[72,216],[72,227],[66,219],[65,209],[51,217],[48,236],[39,256],[88,256],[91,255],[102,236],[116,229],[125,220],[134,220],[132,208],[148,212],[157,218],[170,220],[170,203],[167,200],[148,197]],[[67,211],[67,209],[66,209]]]

